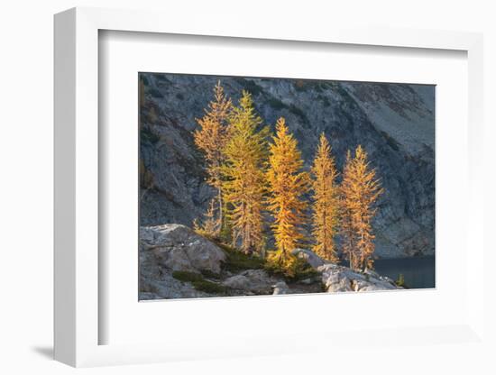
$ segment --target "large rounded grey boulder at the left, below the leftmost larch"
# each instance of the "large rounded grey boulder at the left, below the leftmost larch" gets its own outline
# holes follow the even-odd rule
[[[140,240],[142,252],[153,252],[157,259],[154,267],[163,266],[170,270],[193,272],[209,270],[218,273],[221,262],[225,261],[225,252],[181,224],[142,227]],[[149,267],[147,261],[143,263],[142,267]]]

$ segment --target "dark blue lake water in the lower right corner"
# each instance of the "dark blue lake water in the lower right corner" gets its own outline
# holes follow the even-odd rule
[[[380,275],[398,279],[405,278],[409,288],[434,288],[436,282],[435,257],[413,257],[402,259],[380,259],[373,262],[374,269]]]

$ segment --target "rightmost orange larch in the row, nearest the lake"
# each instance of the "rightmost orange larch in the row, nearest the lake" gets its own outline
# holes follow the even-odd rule
[[[352,269],[372,269],[375,250],[372,218],[377,211],[374,204],[384,190],[361,145],[356,148],[354,158],[348,151],[341,191],[344,252]]]

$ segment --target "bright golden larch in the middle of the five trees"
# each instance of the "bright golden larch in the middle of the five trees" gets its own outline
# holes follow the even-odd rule
[[[302,196],[308,192],[309,178],[308,173],[302,170],[298,142],[289,133],[283,117],[276,123],[276,134],[272,140],[267,180],[276,251],[270,254],[268,261],[292,276],[296,257],[291,252],[304,239],[301,226],[305,222],[307,202]]]

